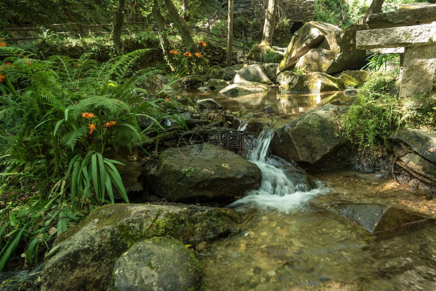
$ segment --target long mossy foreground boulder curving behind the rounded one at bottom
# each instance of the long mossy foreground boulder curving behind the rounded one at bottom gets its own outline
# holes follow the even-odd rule
[[[231,231],[240,222],[238,212],[223,208],[143,204],[99,207],[55,240],[45,258],[41,290],[106,290],[115,263],[136,242],[165,236],[197,244]]]

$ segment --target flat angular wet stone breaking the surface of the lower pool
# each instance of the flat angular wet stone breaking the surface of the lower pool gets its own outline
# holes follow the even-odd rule
[[[335,199],[335,195],[321,195],[310,200],[310,205],[345,217],[370,233],[380,233],[410,223],[423,222],[428,217],[394,206],[379,203],[359,203]]]

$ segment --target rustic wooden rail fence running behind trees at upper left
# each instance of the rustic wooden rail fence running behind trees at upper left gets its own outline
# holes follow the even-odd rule
[[[136,25],[136,26],[141,26],[142,29],[145,29],[146,27],[152,27],[152,29],[154,28],[154,25],[152,24],[147,24],[145,22],[131,22],[131,23],[127,23],[125,26],[129,26],[131,27],[132,25]],[[49,27],[17,27],[17,28],[4,28],[3,31],[10,31],[10,32],[18,32],[18,33],[23,33],[25,34],[24,37],[18,37],[18,38],[10,38],[10,37],[6,37],[6,41],[8,42],[19,42],[19,41],[27,41],[27,40],[35,40],[38,39],[38,37],[35,36],[30,36],[29,32],[37,32],[37,33],[43,33],[44,29],[50,29],[52,28],[53,30],[58,29],[60,27],[68,27],[71,28],[72,30],[67,30],[67,31],[53,31],[51,32],[51,34],[58,34],[58,35],[64,35],[64,34],[74,34],[74,35],[79,35],[79,37],[84,36],[87,33],[93,33],[93,34],[108,34],[108,33],[112,33],[112,29],[108,29],[106,31],[94,31],[93,28],[106,28],[106,27],[112,27],[113,24],[112,23],[108,23],[108,24],[81,24],[79,23],[58,23],[58,24],[52,24]],[[76,28],[76,30],[73,29],[73,27]],[[171,29],[171,33],[174,34],[177,30],[174,29],[173,25],[166,25],[166,27],[169,27]],[[213,33],[210,32],[209,30],[200,28],[198,26],[190,26],[192,29],[194,29],[197,33],[206,33],[208,36],[213,35],[214,37],[219,38],[219,40],[214,40],[214,39],[210,39],[212,41],[218,42],[220,43],[220,45],[224,45],[226,40],[227,40],[227,35],[226,34],[217,34],[217,33]],[[131,32],[131,31],[141,31],[141,28],[139,27],[133,27],[133,28],[129,28],[129,29],[124,29],[123,32]],[[242,43],[242,45],[237,45],[237,44],[233,44],[234,47],[237,48],[241,48],[243,51],[243,54],[245,55],[245,38],[244,38],[244,34],[242,34],[242,40],[239,39],[233,39],[233,41],[235,42],[239,42]]]

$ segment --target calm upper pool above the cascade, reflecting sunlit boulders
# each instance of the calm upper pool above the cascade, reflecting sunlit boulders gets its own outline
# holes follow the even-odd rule
[[[181,94],[193,100],[213,98],[226,110],[232,112],[238,111],[241,107],[245,107],[249,111],[260,111],[262,108],[271,105],[277,113],[296,115],[328,103],[349,105],[354,101],[354,97],[345,96],[342,92],[289,94],[282,93],[276,89],[265,93],[253,93],[242,96],[224,96],[216,92],[203,93],[199,91],[184,91]]]

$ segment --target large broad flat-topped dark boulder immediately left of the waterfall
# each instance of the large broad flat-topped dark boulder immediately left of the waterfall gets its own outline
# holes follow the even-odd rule
[[[148,177],[154,195],[187,202],[234,200],[260,183],[258,166],[207,143],[164,151]]]

